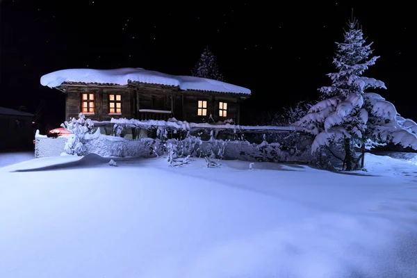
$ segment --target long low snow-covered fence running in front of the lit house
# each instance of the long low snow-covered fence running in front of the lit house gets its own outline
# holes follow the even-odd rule
[[[35,157],[60,156],[65,153],[67,137],[47,138],[36,133]],[[141,138],[128,140],[117,136],[106,136],[97,130],[85,140],[87,154],[95,153],[100,156],[144,158],[162,156],[167,149],[174,150],[175,156],[196,156],[222,159],[240,159],[243,161],[293,161],[306,163],[311,159],[309,149],[304,151],[283,150],[279,143],[261,144],[250,143],[246,140],[201,140],[189,136],[183,140],[158,138]]]

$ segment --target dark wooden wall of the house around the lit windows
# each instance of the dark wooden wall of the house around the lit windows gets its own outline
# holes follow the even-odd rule
[[[232,119],[239,124],[239,97],[236,95],[227,95],[212,92],[200,92],[192,90],[179,90],[178,87],[132,83],[129,87],[111,87],[111,86],[92,86],[77,85],[67,87],[67,101],[65,107],[65,116],[67,120],[71,117],[78,117],[81,112],[81,94],[95,94],[95,113],[87,115],[92,120],[108,121],[112,117],[126,117],[128,119],[136,118],[144,120],[149,117],[148,114],[141,113],[140,109],[171,111],[171,114],[163,115],[175,117],[177,120],[186,120],[187,122],[210,122],[210,115],[215,122],[220,120]],[[108,95],[122,95],[122,115],[109,114]],[[197,115],[198,101],[207,101],[207,115]],[[227,103],[227,117],[220,117],[219,102]],[[161,115],[152,115],[152,119],[161,118]],[[161,118],[161,119],[162,119]]]

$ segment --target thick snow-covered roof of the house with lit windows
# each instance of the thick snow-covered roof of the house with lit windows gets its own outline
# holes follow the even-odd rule
[[[117,85],[127,85],[129,80],[142,83],[179,86],[182,90],[204,90],[250,95],[249,89],[222,81],[204,79],[195,76],[164,74],[162,72],[145,70],[140,67],[124,67],[115,70],[58,70],[42,76],[40,78],[40,83],[44,86],[54,88],[64,82],[111,83]]]

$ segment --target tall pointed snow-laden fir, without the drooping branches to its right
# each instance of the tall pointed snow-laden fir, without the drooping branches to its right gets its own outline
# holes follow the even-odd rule
[[[295,125],[304,126],[306,132],[315,136],[312,152],[323,146],[343,147],[345,154],[341,160],[346,170],[353,170],[359,161],[353,147],[363,141],[362,133],[368,121],[368,111],[363,108],[363,90],[386,87],[382,81],[361,76],[379,56],[368,58],[373,53],[372,43],[365,44],[357,20],[347,25],[344,42],[336,42],[338,50],[333,64],[338,72],[327,74],[332,85],[320,88],[322,101],[311,106],[309,113]]]

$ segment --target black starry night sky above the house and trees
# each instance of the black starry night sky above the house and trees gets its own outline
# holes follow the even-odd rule
[[[43,74],[143,67],[189,75],[208,45],[224,79],[252,90],[243,113],[243,123],[252,124],[262,111],[316,99],[317,89],[331,83],[325,74],[334,70],[334,42],[343,40],[354,8],[374,54],[381,56],[365,76],[384,81],[388,90],[379,93],[401,115],[417,120],[411,4],[291,2],[275,8],[263,1],[3,0],[0,106],[24,105],[33,112],[43,99],[40,120],[59,126],[65,97],[40,85]]]

